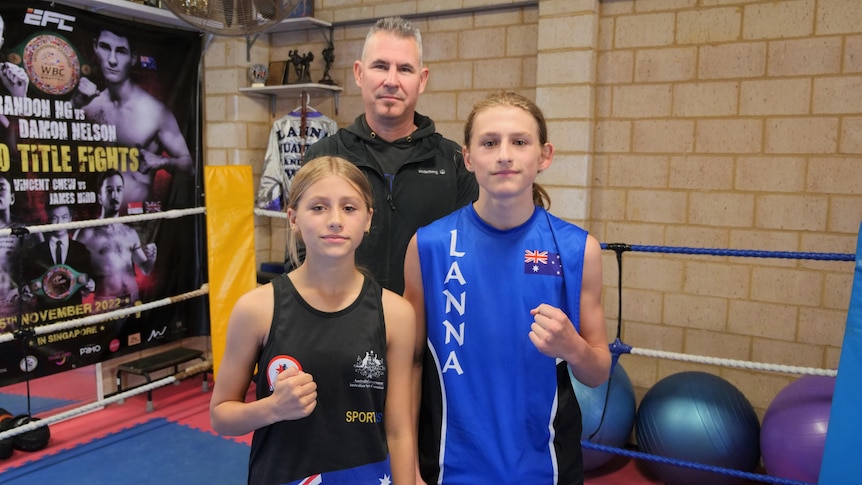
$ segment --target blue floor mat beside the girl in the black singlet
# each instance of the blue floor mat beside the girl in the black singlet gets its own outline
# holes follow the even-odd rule
[[[157,418],[9,470],[0,483],[236,485],[248,480],[248,454],[245,444]]]

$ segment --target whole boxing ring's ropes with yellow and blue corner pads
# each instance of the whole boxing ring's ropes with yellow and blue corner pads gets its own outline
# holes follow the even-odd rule
[[[248,170],[246,170],[248,169]],[[131,396],[148,392],[152,389],[177,382],[201,372],[212,371],[217,376],[219,357],[223,353],[224,338],[227,327],[227,317],[236,299],[256,286],[256,262],[254,252],[254,216],[268,218],[285,218],[282,212],[267,211],[253,208],[252,180],[249,167],[208,167],[205,171],[205,187],[207,205],[205,208],[195,208],[180,211],[168,211],[160,214],[127,216],[110,222],[88,221],[63,224],[65,228],[74,229],[85,224],[109,224],[115,222],[133,222],[150,220],[157,217],[179,218],[195,214],[206,214],[207,221],[207,260],[208,282],[199,289],[178,294],[158,301],[146,302],[141,306],[126,308],[115,312],[89,315],[83,318],[58,322],[50,326],[37,327],[35,332],[49,333],[58,330],[69,330],[85,325],[91,325],[102,319],[116,318],[131,313],[146,311],[164,305],[190,298],[209,297],[211,315],[211,361],[193,365],[182,372],[156,380],[152,383],[136,387],[129,391],[117,393],[105,399],[54,415],[32,421],[24,426],[0,432],[0,440],[11,438],[21,433],[32,431],[41,426],[74,418],[89,413],[104,406],[122,402]],[[246,190],[247,189],[247,190]],[[49,231],[56,225],[35,226],[30,231]],[[8,235],[0,230],[0,236]],[[8,231],[8,230],[7,230]],[[860,227],[862,235],[862,227]],[[834,377],[836,379],[831,423],[840,426],[829,426],[826,435],[826,445],[823,453],[820,477],[817,483],[840,484],[852,483],[853,477],[862,474],[862,465],[857,458],[862,454],[859,436],[862,436],[862,421],[856,419],[856,408],[862,402],[862,390],[858,382],[862,380],[862,237],[857,243],[855,255],[836,253],[798,253],[772,251],[740,251],[728,249],[680,248],[662,246],[635,246],[626,244],[603,244],[604,250],[616,254],[619,265],[617,336],[611,344],[613,360],[618,360],[626,354],[653,359],[668,359],[686,363],[706,364],[711,366],[745,369],[758,372],[777,372],[792,375],[812,375]],[[684,254],[697,256],[730,256],[739,258],[778,258],[806,259],[817,261],[855,262],[851,301],[844,330],[843,345],[839,368],[823,369],[803,366],[783,365],[776,363],[750,362],[737,359],[725,359],[709,356],[698,356],[678,352],[634,347],[621,340],[622,334],[622,261],[627,252],[652,252],[664,254]],[[0,335],[0,342],[14,339],[12,334]],[[606,403],[607,404],[607,403]],[[582,442],[585,450],[595,450],[608,454],[628,457],[644,462],[666,464],[674,467],[689,468],[718,475],[726,475],[734,479],[758,481],[763,483],[793,484],[802,483],[796,480],[774,477],[762,473],[734,470],[705,463],[689,462],[666,456],[659,456],[631,449],[611,447],[589,440]]]

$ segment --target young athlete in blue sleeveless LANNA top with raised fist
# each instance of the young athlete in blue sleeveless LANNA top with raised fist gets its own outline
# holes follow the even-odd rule
[[[566,367],[590,386],[610,372],[601,247],[544,208],[534,180],[553,146],[533,102],[491,95],[464,135],[479,198],[419,229],[405,260],[404,296],[424,355],[422,479],[583,483],[581,415]]]

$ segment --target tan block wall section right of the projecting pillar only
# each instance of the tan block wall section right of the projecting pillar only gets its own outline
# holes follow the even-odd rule
[[[606,242],[854,252],[860,22],[855,0],[601,2],[591,230]],[[838,365],[852,263],[623,259],[629,344]],[[607,266],[615,286],[616,264]],[[640,392],[683,369],[717,370],[622,362]],[[795,378],[717,373],[761,412]]]

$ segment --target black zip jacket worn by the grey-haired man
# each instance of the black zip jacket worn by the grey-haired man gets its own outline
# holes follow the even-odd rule
[[[414,113],[416,131],[392,143],[373,134],[365,115],[311,145],[303,162],[324,156],[338,155],[358,166],[371,182],[374,196],[374,216],[371,233],[366,235],[356,251],[357,265],[368,269],[384,288],[404,293],[404,255],[413,234],[479,196],[476,177],[464,168],[461,147],[435,131],[427,116]],[[408,147],[405,160],[391,180],[375,159],[368,146],[376,150],[385,147]]]

